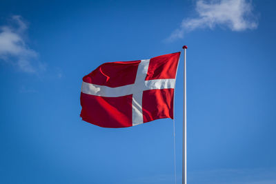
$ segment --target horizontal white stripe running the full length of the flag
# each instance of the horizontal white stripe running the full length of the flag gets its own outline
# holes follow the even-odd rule
[[[159,90],[175,88],[175,79],[155,79],[139,82],[130,85],[123,85],[117,88],[110,88],[106,85],[96,85],[83,82],[81,92],[95,96],[118,97],[143,92],[146,90]]]

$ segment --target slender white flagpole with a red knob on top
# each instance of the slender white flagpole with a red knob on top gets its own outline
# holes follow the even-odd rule
[[[186,50],[187,45],[183,46],[184,49],[184,74],[183,74],[183,152],[182,152],[182,184],[187,184],[187,86],[186,86]]]

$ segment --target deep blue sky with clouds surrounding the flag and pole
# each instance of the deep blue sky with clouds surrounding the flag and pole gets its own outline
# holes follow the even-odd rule
[[[107,61],[187,50],[188,183],[276,183],[275,6],[245,1],[0,3],[0,183],[175,183],[172,121],[81,121]],[[182,77],[175,96],[181,183]]]

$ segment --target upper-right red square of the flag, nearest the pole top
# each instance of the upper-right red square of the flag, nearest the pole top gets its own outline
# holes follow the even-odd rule
[[[146,81],[152,79],[175,79],[180,52],[150,59]]]

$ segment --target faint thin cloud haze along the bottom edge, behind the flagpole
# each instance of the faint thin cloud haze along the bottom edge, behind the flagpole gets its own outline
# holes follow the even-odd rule
[[[275,184],[276,168],[235,168],[218,170],[194,170],[188,172],[188,183],[204,184]],[[181,172],[177,173],[177,183],[181,183]],[[159,174],[128,178],[121,183],[174,183],[173,174]]]

